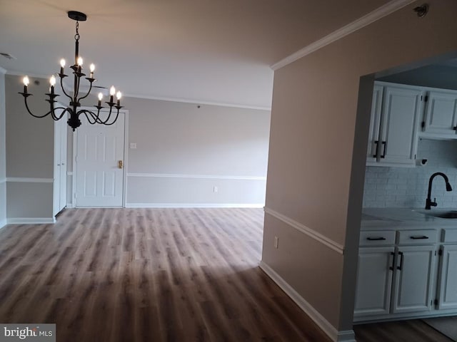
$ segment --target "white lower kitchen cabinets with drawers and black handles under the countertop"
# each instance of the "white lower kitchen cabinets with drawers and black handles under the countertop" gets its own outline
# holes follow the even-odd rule
[[[457,229],[447,230],[441,242],[441,229],[361,232],[354,322],[457,315]]]

